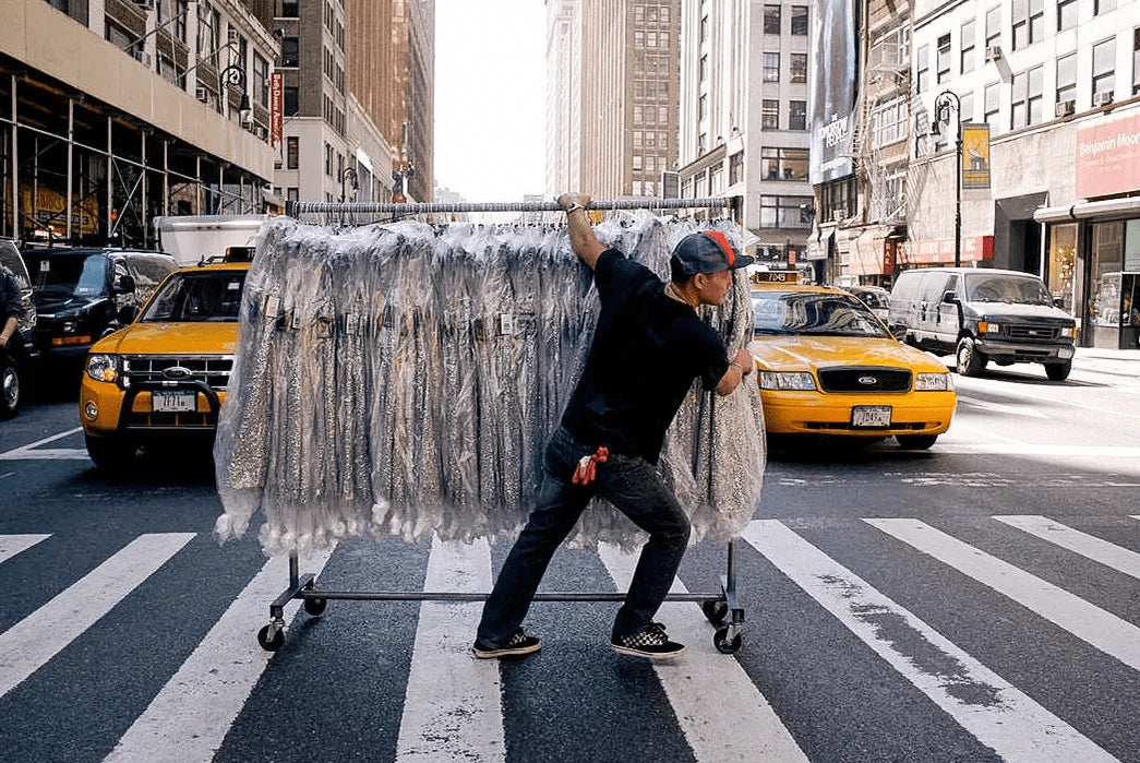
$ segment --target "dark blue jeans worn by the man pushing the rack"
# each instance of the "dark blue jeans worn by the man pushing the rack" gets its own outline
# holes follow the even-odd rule
[[[608,500],[649,533],[625,603],[613,622],[613,635],[636,633],[665,601],[689,545],[689,517],[657,469],[644,458],[611,453],[604,464],[597,465],[593,484],[573,485],[571,477],[578,460],[592,452],[592,447],[575,443],[561,427],[551,437],[538,505],[511,549],[483,607],[477,635],[481,644],[499,647],[522,625],[551,557],[594,495]]]

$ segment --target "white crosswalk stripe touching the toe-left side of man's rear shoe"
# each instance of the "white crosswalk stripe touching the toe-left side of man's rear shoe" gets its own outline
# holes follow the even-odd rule
[[[425,591],[474,593],[490,587],[486,539],[470,545],[433,539]],[[475,659],[471,652],[481,612],[479,601],[420,606],[397,761],[505,760],[498,660]]]

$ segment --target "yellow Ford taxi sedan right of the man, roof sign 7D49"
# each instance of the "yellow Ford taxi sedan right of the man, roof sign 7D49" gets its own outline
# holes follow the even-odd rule
[[[768,433],[931,447],[958,403],[946,366],[895,339],[853,294],[795,275],[752,276],[750,349]]]

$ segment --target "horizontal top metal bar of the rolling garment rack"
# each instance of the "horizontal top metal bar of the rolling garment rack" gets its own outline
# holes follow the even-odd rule
[[[707,198],[619,198],[592,201],[592,210],[677,210],[730,209],[738,197],[712,196]],[[557,202],[464,202],[464,203],[407,203],[383,202],[286,202],[285,214],[434,214],[446,212],[561,212]]]

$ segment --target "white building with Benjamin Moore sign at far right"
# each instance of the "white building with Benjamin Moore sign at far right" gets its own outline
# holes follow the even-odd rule
[[[912,38],[905,263],[953,261],[956,206],[964,265],[1041,274],[1082,344],[1137,347],[1140,0],[915,0]]]

